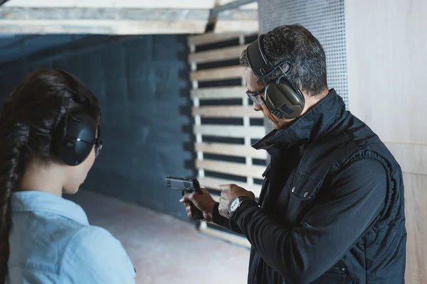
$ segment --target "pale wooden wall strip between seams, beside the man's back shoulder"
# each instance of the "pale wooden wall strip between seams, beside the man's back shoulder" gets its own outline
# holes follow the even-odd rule
[[[404,173],[427,175],[427,144],[385,143]]]

